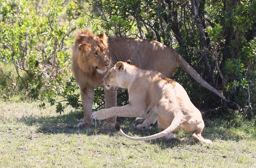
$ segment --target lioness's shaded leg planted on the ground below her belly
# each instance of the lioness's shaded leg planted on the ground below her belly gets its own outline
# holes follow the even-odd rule
[[[146,129],[150,129],[158,118],[158,110],[157,107],[151,107],[148,115],[145,118],[145,121],[142,124],[137,125],[137,128],[145,127]]]

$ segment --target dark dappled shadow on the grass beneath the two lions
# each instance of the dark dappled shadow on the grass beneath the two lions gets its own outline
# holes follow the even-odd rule
[[[104,121],[94,121],[93,127],[80,129],[77,127],[77,124],[81,122],[83,115],[82,112],[73,111],[67,114],[61,114],[55,117],[33,117],[33,116],[26,116],[19,119],[20,122],[25,123],[26,125],[37,125],[38,132],[40,133],[84,133],[87,136],[92,135],[99,135],[105,134],[109,136],[113,136],[115,134],[115,129],[113,127],[103,127]],[[158,133],[157,124],[151,127],[150,130],[146,129],[138,129],[136,127],[135,118],[123,118],[118,117],[117,121],[120,123],[122,130],[125,133],[128,133],[132,136],[148,136]],[[196,142],[192,139],[191,133],[175,133],[176,137],[170,140],[162,140],[156,139],[151,140],[150,143],[152,144],[160,144],[161,146],[166,147],[174,147],[178,145],[194,145]],[[116,135],[115,135],[116,136]],[[241,139],[245,139],[243,135],[239,133],[230,133],[223,127],[206,127],[202,132],[202,136],[205,139],[211,139],[213,142],[215,139],[218,140],[232,140],[232,141],[239,141]],[[256,135],[253,135],[255,138]]]

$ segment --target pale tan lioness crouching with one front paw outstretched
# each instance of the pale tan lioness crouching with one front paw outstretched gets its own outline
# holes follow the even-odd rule
[[[195,141],[211,143],[204,139],[201,132],[204,121],[200,111],[192,104],[183,87],[160,72],[142,70],[125,62],[117,62],[103,78],[107,89],[117,86],[128,89],[130,104],[121,107],[111,107],[93,112],[93,119],[107,119],[113,116],[145,117],[151,108],[157,108],[157,115],[147,116],[143,124],[151,125],[157,119],[160,133],[134,138],[122,132],[116,123],[118,133],[132,140],[151,140],[165,136],[174,137],[172,132],[184,130],[192,133]]]

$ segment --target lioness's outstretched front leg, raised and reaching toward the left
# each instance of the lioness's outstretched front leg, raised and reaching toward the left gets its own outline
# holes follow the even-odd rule
[[[102,109],[92,113],[93,119],[104,120],[113,116],[119,117],[145,117],[147,115],[146,108],[140,105],[125,105],[121,107],[111,107]]]

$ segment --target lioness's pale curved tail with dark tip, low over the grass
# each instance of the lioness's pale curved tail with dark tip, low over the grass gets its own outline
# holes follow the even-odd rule
[[[173,121],[175,121],[175,120],[173,120]],[[148,141],[148,140],[152,140],[152,139],[161,138],[163,136],[168,135],[169,133],[172,133],[180,125],[180,120],[177,120],[177,121],[172,122],[172,124],[169,127],[167,127],[165,130],[163,130],[160,133],[156,133],[156,134],[151,135],[151,136],[138,137],[138,138],[126,135],[122,131],[118,122],[116,122],[116,124],[115,124],[115,129],[120,135],[124,136],[125,138],[131,139],[131,140],[134,140],[134,141]]]

